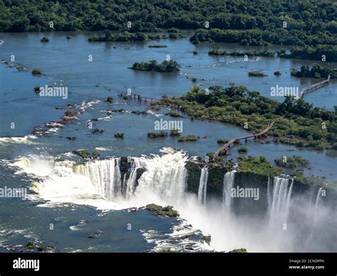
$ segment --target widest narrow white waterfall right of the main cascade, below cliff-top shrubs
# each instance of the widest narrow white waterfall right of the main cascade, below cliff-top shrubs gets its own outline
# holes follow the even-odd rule
[[[281,227],[287,223],[289,215],[291,190],[294,180],[282,177],[275,177],[272,192],[272,201],[269,202],[269,223],[272,226]]]

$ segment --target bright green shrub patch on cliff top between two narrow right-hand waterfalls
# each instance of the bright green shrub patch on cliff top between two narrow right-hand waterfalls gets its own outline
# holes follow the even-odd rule
[[[272,166],[264,156],[248,156],[247,158],[239,156],[237,161],[239,161],[240,171],[242,172],[251,172],[270,177],[279,176],[279,174],[284,173],[283,169]]]

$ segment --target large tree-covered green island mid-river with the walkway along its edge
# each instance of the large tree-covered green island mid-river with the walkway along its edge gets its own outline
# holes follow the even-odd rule
[[[214,85],[209,87],[209,93],[194,86],[182,97],[162,98],[161,104],[179,106],[191,119],[240,127],[249,122],[247,130],[252,133],[261,132],[270,122],[286,115],[269,129],[274,142],[308,149],[337,149],[337,112],[313,107],[303,99],[286,97],[280,103],[244,86]]]

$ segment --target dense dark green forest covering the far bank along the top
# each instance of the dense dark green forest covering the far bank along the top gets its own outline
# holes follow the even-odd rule
[[[194,43],[317,46],[337,40],[332,0],[1,0],[0,14],[0,31],[6,32],[203,28],[193,36]]]

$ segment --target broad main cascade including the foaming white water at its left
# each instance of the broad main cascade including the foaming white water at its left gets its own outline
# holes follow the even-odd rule
[[[161,152],[129,157],[123,164],[121,158],[75,165],[74,161],[30,156],[16,161],[15,166],[43,177],[43,181],[33,184],[33,189],[50,203],[91,204],[102,208],[116,208],[117,204],[124,208],[130,204],[173,204],[186,191],[188,157],[184,152],[168,148]],[[144,171],[138,174],[138,169]]]

